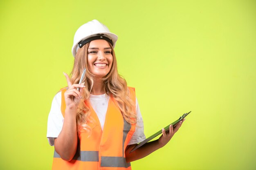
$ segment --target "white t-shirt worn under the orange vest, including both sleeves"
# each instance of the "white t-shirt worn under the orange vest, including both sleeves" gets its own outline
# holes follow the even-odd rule
[[[103,130],[106,112],[108,108],[108,95],[90,95],[89,100],[92,108],[96,112],[99,121],[101,123],[101,129]],[[144,135],[144,124],[143,119],[141,117],[141,113],[139,110],[139,104],[136,98],[136,113],[137,113],[137,126],[135,128],[135,132],[130,139],[128,145],[137,144],[146,139]],[[47,123],[47,139],[51,146],[54,146],[54,138],[58,137],[61,132],[62,126],[64,122],[64,117],[61,113],[61,92],[58,92],[53,100],[52,107],[48,116]]]

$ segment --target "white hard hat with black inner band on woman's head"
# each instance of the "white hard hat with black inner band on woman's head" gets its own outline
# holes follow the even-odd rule
[[[89,21],[77,29],[74,35],[72,54],[75,57],[79,47],[81,48],[87,42],[97,39],[107,40],[114,48],[117,38],[117,35],[110,33],[109,29],[98,20]]]

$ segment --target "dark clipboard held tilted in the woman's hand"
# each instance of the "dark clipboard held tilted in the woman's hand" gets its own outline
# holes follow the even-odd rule
[[[191,111],[190,111],[191,112]],[[189,112],[189,113],[190,113]],[[173,123],[171,123],[173,125],[173,127],[175,127],[177,125],[177,123],[181,120],[183,120],[187,115],[189,115],[189,113],[184,113],[179,119],[177,119],[176,121],[174,121]],[[168,132],[170,129],[170,125],[166,126],[164,128],[165,132]],[[151,141],[152,139],[154,139],[155,137],[157,137],[158,135],[160,135],[162,133],[162,130],[159,130],[158,132],[156,132],[154,135],[151,135],[150,137],[148,137],[147,139],[145,139],[144,141],[140,142],[139,144],[137,144],[134,148],[132,148],[132,151],[136,150],[137,148],[141,147],[142,145],[146,144],[148,141]]]

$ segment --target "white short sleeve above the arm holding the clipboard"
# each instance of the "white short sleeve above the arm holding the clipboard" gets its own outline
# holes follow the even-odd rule
[[[144,134],[143,119],[139,110],[137,97],[136,97],[136,113],[137,113],[137,126],[135,128],[135,132],[133,133],[132,138],[130,139],[128,145],[138,144],[139,142],[144,141],[146,139],[146,136]]]

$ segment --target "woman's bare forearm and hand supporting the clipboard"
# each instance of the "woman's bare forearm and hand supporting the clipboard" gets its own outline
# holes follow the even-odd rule
[[[126,151],[125,151],[126,162],[132,162],[132,161],[136,161],[138,159],[144,158],[144,157],[148,156],[150,153],[154,152],[155,150],[165,146],[168,143],[168,141],[171,140],[173,135],[179,130],[180,126],[182,125],[182,123],[184,121],[185,121],[185,119],[180,121],[177,124],[177,126],[175,126],[174,129],[173,129],[173,126],[171,125],[168,133],[166,133],[165,130],[162,130],[163,134],[159,139],[157,139],[155,141],[148,142],[148,143],[144,144],[143,146],[137,148],[136,150],[134,150],[131,153],[130,153],[130,150],[132,150],[132,148],[134,148],[137,144],[127,146]]]

